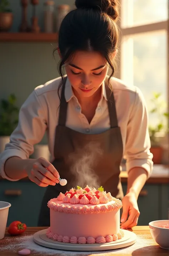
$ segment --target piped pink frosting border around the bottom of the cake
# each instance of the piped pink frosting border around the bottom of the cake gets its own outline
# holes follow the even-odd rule
[[[79,237],[77,238],[76,236],[72,236],[71,238],[68,236],[61,236],[54,234],[50,232],[50,228],[48,228],[46,232],[46,236],[52,240],[56,240],[58,242],[63,242],[63,243],[79,243],[79,244],[92,244],[92,243],[109,243],[112,241],[117,241],[118,239],[121,239],[124,237],[124,232],[122,229],[119,230],[118,234],[113,234],[113,236],[108,235],[106,237],[103,236],[98,236],[96,239],[94,237]]]

